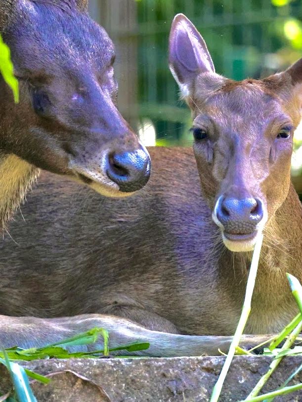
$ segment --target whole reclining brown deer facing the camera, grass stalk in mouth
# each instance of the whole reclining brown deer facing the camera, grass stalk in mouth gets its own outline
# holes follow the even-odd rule
[[[30,316],[2,318],[6,347],[99,325],[112,346],[150,341],[150,356],[226,351],[261,231],[243,346],[297,314],[285,273],[302,281],[302,208],[290,183],[302,60],[264,80],[227,80],[177,15],[170,66],[192,110],[195,158],[189,149],[150,149],[150,182],[115,202],[45,174],[25,221],[16,217],[0,245],[0,311]]]

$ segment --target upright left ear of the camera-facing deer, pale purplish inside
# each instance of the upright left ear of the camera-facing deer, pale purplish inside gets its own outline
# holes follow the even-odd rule
[[[177,14],[169,38],[169,66],[183,96],[188,96],[194,78],[204,72],[215,73],[206,42],[183,14]]]

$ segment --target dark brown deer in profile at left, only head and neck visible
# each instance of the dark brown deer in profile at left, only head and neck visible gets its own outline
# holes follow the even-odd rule
[[[87,0],[1,0],[20,103],[0,77],[0,227],[39,168],[105,196],[143,187],[150,159],[116,107],[114,46]]]

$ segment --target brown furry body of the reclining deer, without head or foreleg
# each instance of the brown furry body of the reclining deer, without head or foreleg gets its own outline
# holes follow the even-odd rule
[[[232,335],[252,253],[223,245],[191,150],[149,152],[153,175],[131,200],[43,174],[22,208],[25,221],[17,215],[0,245],[2,314],[112,314],[152,330]],[[301,233],[291,188],[264,235],[246,333],[278,332],[297,314],[285,273],[302,280]]]

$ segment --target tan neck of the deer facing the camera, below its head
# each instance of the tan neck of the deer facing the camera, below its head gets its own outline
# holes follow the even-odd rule
[[[247,333],[273,333],[298,314],[286,273],[302,282],[302,206],[291,185],[286,201],[263,232],[263,244],[252,298]],[[233,308],[240,314],[252,260],[250,253],[221,255],[219,279]]]

